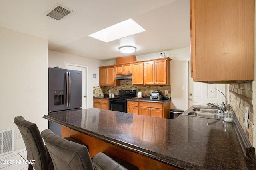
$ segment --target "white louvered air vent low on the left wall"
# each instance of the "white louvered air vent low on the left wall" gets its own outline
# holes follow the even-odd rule
[[[0,131],[0,156],[14,151],[14,129]]]

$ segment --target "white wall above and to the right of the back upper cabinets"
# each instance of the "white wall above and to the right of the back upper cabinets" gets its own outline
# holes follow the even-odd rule
[[[171,61],[171,109],[186,110],[186,58],[190,57],[190,47],[162,51]],[[137,61],[159,58],[161,52],[146,55],[137,55]],[[136,55],[136,54],[135,54]],[[116,64],[116,60],[106,61],[106,65]],[[181,89],[184,86],[184,90]]]

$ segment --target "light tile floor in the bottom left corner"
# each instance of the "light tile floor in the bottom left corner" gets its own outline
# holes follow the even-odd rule
[[[22,151],[6,158],[2,158],[0,160],[0,170],[28,170],[26,160],[27,151]]]

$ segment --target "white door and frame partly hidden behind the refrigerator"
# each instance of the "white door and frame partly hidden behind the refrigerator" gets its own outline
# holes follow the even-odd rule
[[[67,63],[66,69],[82,71],[82,109],[86,109],[87,108],[87,100],[86,100],[87,66]]]

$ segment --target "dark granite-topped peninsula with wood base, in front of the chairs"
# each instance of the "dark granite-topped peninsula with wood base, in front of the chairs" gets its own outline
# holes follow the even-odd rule
[[[180,115],[164,119],[103,109],[50,113],[62,137],[106,152],[140,169],[256,169],[244,155],[234,123]]]

